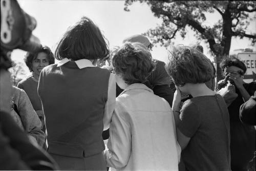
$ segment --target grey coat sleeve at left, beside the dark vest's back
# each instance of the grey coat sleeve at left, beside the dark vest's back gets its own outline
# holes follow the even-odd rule
[[[25,131],[29,136],[34,137],[37,143],[42,146],[45,143],[46,135],[41,131],[41,121],[33,109],[28,95],[24,90],[20,90],[19,98],[15,101],[17,101],[18,112]],[[32,137],[31,139],[33,139]]]

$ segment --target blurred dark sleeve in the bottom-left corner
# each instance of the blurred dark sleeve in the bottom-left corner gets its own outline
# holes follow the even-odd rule
[[[53,159],[30,143],[9,113],[0,112],[0,170],[57,170]]]

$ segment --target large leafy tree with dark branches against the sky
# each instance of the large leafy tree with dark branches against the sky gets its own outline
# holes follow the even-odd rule
[[[133,0],[126,0],[124,10],[129,11]],[[148,30],[145,35],[153,43],[168,46],[177,34],[186,36],[185,27],[190,27],[198,40],[208,43],[210,52],[217,63],[217,80],[220,80],[221,69],[219,63],[224,56],[229,55],[231,38],[249,38],[256,42],[256,33],[247,33],[249,13],[256,11],[255,1],[139,1],[150,6],[154,16],[163,20],[160,26]],[[218,12],[222,18],[207,26],[207,13]],[[255,19],[255,16],[254,16]]]

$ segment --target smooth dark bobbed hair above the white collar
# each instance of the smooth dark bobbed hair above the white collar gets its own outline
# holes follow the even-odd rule
[[[55,58],[72,59],[103,59],[109,55],[109,46],[99,28],[88,17],[70,27],[59,41]]]

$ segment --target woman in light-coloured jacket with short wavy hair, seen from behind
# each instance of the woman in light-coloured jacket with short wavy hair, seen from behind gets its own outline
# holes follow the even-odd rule
[[[180,146],[167,101],[143,83],[155,68],[141,43],[124,43],[112,58],[117,84],[107,164],[120,170],[178,170]],[[156,157],[157,156],[157,157]]]

